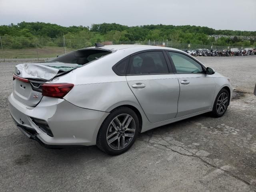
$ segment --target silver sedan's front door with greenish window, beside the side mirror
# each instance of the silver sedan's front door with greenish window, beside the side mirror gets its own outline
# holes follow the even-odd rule
[[[180,84],[178,113],[181,117],[210,109],[215,92],[215,81],[206,69],[187,54],[167,52]]]

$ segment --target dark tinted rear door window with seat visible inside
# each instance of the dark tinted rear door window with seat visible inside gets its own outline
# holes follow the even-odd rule
[[[161,51],[144,52],[130,58],[127,74],[169,73],[164,54]]]

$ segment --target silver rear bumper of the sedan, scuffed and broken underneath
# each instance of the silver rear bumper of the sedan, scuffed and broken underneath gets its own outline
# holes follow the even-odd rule
[[[36,107],[22,104],[12,94],[8,100],[17,127],[29,138],[49,148],[96,144],[98,130],[109,114],[80,108],[57,98],[43,97]],[[45,120],[53,137],[40,130],[31,117]]]

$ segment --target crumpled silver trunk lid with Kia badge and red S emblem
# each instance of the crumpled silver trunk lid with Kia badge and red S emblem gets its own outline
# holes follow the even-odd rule
[[[12,94],[23,104],[34,107],[42,99],[42,85],[45,82],[78,67],[78,64],[61,62],[18,64],[14,70]]]

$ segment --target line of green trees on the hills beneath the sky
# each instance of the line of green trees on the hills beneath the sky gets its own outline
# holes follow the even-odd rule
[[[143,25],[124,26],[116,23],[92,24],[89,26],[64,27],[57,24],[44,22],[20,22],[17,25],[0,26],[0,36],[12,39],[22,48],[22,43],[30,43],[33,38],[48,38],[48,46],[59,46],[60,39],[65,35],[67,39],[82,41],[83,46],[91,46],[95,42],[104,41],[148,41],[171,40],[172,42],[191,44],[214,44],[221,46],[256,46],[256,31],[215,30],[201,26],[174,26],[174,25]],[[210,35],[234,36],[220,37],[217,40]],[[247,39],[241,36],[248,37]],[[19,42],[20,41],[20,42]],[[81,43],[81,42],[80,42]]]

